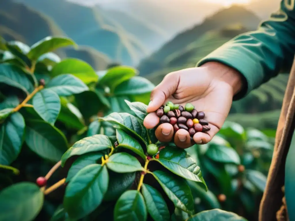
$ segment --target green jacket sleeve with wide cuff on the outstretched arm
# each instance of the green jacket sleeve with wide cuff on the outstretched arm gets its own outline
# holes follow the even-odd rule
[[[295,53],[295,0],[281,1],[281,8],[253,32],[240,34],[197,63],[222,62],[245,77],[242,98],[251,90],[291,67]]]

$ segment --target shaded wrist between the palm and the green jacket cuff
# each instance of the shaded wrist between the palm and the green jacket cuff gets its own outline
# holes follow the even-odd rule
[[[242,90],[242,74],[234,68],[220,62],[207,62],[201,67],[208,68],[209,72],[214,75],[214,78],[218,78],[218,80],[230,85],[233,90],[233,95],[236,95],[240,92],[240,90]]]

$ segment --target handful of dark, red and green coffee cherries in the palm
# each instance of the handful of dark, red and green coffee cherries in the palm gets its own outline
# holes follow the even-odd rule
[[[183,107],[169,101],[166,105],[161,106],[156,114],[160,118],[160,123],[173,125],[174,133],[179,129],[185,129],[189,131],[192,138],[197,132],[210,130],[208,121],[204,119],[205,113],[203,111],[198,112],[191,103],[187,103]]]

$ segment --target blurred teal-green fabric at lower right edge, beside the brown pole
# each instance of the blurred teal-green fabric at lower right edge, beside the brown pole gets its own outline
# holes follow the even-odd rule
[[[295,220],[295,133],[287,154],[285,167],[285,197],[289,220]]]

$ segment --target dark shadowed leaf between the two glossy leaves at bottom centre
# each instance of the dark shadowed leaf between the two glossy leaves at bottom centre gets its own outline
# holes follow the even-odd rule
[[[136,172],[115,173],[109,170],[109,187],[104,195],[104,201],[116,201],[128,189],[132,187]]]

